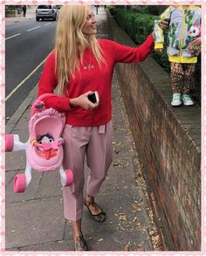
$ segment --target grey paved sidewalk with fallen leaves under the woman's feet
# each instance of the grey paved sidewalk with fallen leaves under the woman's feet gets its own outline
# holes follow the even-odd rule
[[[97,16],[100,35],[107,34],[106,12]],[[8,121],[6,131],[26,142],[36,88]],[[23,194],[14,194],[13,178],[24,172],[24,152],[6,153],[6,250],[72,251],[72,228],[63,217],[58,172],[32,172]],[[83,233],[90,251],[161,250],[141,164],[134,149],[116,74],[113,74],[113,163],[96,201],[107,218],[94,222],[84,209]]]

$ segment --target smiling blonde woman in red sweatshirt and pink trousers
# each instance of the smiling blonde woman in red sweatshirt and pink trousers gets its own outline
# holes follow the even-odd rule
[[[66,114],[64,166],[73,170],[74,183],[64,188],[63,197],[65,218],[72,222],[75,251],[87,250],[81,232],[83,201],[95,221],[106,220],[94,197],[112,162],[113,67],[117,62],[143,61],[154,50],[152,34],[139,48],[97,40],[96,23],[86,5],[61,8],[55,50],[47,58],[38,83],[38,96],[52,93],[58,86],[58,95],[45,100],[45,106]],[[88,100],[94,91],[99,93],[100,102]],[[83,197],[85,155],[91,171]]]

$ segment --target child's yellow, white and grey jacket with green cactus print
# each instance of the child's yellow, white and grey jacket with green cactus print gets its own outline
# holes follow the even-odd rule
[[[183,10],[182,5],[169,6],[154,21],[154,49],[163,49],[164,34],[159,23],[166,18],[168,24],[168,60],[177,63],[196,63],[196,54],[189,52],[189,29],[192,25],[201,25],[201,9],[189,5]]]

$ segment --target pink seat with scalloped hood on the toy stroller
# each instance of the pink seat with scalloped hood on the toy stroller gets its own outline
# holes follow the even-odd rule
[[[65,115],[59,114],[53,108],[45,109],[43,112],[34,114],[29,123],[30,141],[26,149],[26,156],[31,167],[38,171],[56,170],[63,161],[63,148],[60,136],[65,127]],[[41,135],[51,135],[53,142],[42,143],[38,147],[37,139]],[[35,141],[35,142],[34,142]],[[51,144],[51,149],[45,148],[45,144]],[[44,150],[45,149],[45,150]],[[46,157],[52,152],[51,156]],[[48,153],[48,154],[47,154]]]

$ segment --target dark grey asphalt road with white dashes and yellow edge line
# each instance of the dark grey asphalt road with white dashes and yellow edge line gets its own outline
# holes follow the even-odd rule
[[[6,24],[6,117],[17,110],[38,83],[42,66],[32,72],[52,50],[56,24],[52,20],[37,22],[34,17]],[[25,80],[28,76],[30,78]],[[19,84],[22,86],[17,89]],[[15,88],[17,91],[14,93]]]

